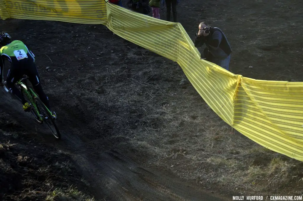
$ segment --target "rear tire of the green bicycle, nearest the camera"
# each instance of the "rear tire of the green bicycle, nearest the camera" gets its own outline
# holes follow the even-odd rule
[[[54,135],[54,137],[56,139],[58,139],[58,140],[61,139],[61,134],[60,134],[59,128],[55,122],[55,119],[52,116],[52,113],[48,111],[47,107],[45,106],[45,104],[43,104],[43,102],[42,102],[42,100],[40,100],[40,98],[34,97],[33,99],[34,99],[34,103],[36,104],[36,106],[38,108],[40,115],[45,115],[45,113],[46,113],[46,115],[48,117],[48,118],[43,117],[43,122],[45,122],[48,125],[48,128],[52,131],[52,134]],[[42,107],[42,108],[40,108],[40,107]],[[41,111],[41,109],[43,109],[45,112],[43,113]],[[53,126],[55,128],[56,134],[50,127],[50,122],[53,124]]]

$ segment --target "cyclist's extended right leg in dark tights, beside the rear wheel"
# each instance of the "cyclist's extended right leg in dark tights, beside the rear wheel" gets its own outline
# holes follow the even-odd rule
[[[39,98],[45,104],[45,106],[51,111],[49,106],[48,97],[44,93],[42,89],[42,85],[40,82],[40,76],[37,70],[37,67],[34,62],[30,62],[27,66],[27,72],[25,74],[28,76],[28,80],[32,83],[34,90],[38,94]]]

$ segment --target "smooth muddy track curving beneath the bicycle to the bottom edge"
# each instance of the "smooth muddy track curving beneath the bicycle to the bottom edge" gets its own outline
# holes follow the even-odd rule
[[[95,131],[79,124],[80,120],[77,128],[59,120],[62,139],[57,141],[43,130],[42,125],[35,123],[31,114],[23,112],[20,103],[11,100],[11,95],[5,93],[3,88],[0,94],[0,108],[14,115],[25,128],[38,133],[33,137],[72,156],[79,171],[93,185],[97,200],[225,200],[197,189],[195,184],[182,181],[171,173],[142,167],[122,154],[128,151],[121,147],[107,148],[105,151],[91,147],[87,144],[89,140],[85,138],[85,133]],[[61,112],[58,113],[59,118],[60,115]]]

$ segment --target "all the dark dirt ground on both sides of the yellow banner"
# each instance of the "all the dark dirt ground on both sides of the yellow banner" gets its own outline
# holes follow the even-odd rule
[[[188,0],[178,5],[178,18],[191,37],[201,21],[221,28],[233,49],[233,73],[303,81],[302,9],[294,0]],[[164,9],[160,14],[165,19]],[[0,175],[8,185],[0,199],[303,195],[303,163],[233,133],[189,82],[179,85],[186,77],[177,63],[103,25],[0,25],[36,55],[63,135],[55,141],[1,92]]]

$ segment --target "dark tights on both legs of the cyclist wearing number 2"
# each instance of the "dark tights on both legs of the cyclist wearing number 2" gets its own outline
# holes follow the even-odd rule
[[[48,97],[43,92],[41,86],[40,76],[37,67],[32,60],[26,58],[18,62],[14,62],[14,64],[12,63],[12,66],[8,70],[6,78],[6,83],[9,90],[12,92],[12,94],[14,94],[22,101],[22,104],[26,103],[24,97],[21,94],[21,91],[18,90],[18,88],[15,86],[15,83],[19,81],[24,74],[28,76],[28,80],[32,83],[33,88],[38,94],[39,98],[42,100],[45,106],[48,107],[49,110],[51,110],[49,107]]]

